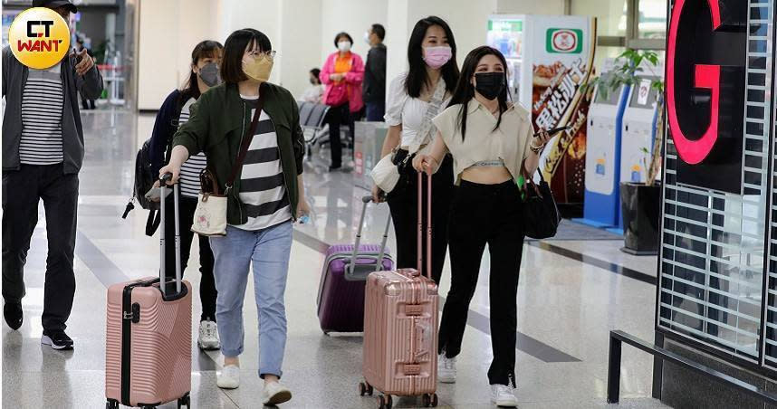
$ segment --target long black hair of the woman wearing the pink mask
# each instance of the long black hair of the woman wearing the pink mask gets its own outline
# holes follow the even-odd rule
[[[408,95],[411,98],[420,97],[421,90],[425,84],[430,88],[433,85],[430,83],[431,81],[427,73],[427,63],[424,62],[424,50],[421,46],[421,44],[424,43],[424,37],[427,36],[427,29],[433,25],[442,27],[443,31],[446,32],[448,45],[451,47],[451,59],[440,69],[443,80],[446,81],[446,89],[449,92],[453,92],[455,87],[454,84],[458,81],[459,72],[456,62],[456,40],[454,39],[453,32],[445,20],[434,15],[428,16],[427,18],[418,20],[416,26],[413,27],[413,33],[410,34],[410,42],[408,43],[408,62],[410,64],[410,70],[408,71],[408,77],[405,79],[405,90],[408,91]]]

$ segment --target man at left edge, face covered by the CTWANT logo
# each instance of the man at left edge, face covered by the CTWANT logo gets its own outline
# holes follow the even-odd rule
[[[76,6],[67,0],[34,0],[65,21]],[[43,199],[49,253],[43,290],[41,342],[71,349],[65,334],[75,294],[73,251],[83,130],[78,93],[96,100],[102,78],[86,50],[46,70],[27,68],[10,47],[3,50],[3,299],[5,322],[22,326],[24,264],[38,203]]]

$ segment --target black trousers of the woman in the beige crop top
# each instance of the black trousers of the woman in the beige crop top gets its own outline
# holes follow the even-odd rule
[[[515,368],[516,296],[523,252],[520,190],[514,181],[479,185],[462,181],[456,188],[448,229],[451,288],[440,322],[439,353],[461,352],[469,302],[475,294],[485,244],[491,255],[489,303],[492,385],[509,385]]]

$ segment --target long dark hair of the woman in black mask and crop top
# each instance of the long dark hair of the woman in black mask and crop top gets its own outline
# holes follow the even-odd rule
[[[499,50],[487,45],[477,47],[475,50],[466,54],[464,65],[461,67],[461,76],[456,84],[456,90],[448,104],[448,107],[461,104],[461,109],[459,110],[458,118],[456,119],[456,122],[458,122],[456,128],[461,129],[462,140],[464,140],[466,134],[467,106],[469,105],[469,101],[475,98],[475,86],[472,85],[472,77],[475,75],[475,70],[477,69],[477,64],[480,62],[480,59],[486,55],[496,56],[496,58],[502,62],[502,67],[504,68],[505,86],[502,91],[499,92],[499,95],[496,96],[496,100],[499,101],[499,119],[496,121],[494,130],[498,129],[499,125],[502,124],[502,113],[507,110],[507,62],[504,60],[504,55],[502,55],[502,52],[499,52]]]

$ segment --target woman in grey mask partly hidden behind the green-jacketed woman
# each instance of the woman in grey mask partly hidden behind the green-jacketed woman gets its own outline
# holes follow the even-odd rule
[[[211,87],[221,83],[218,74],[218,66],[224,46],[215,41],[198,43],[192,51],[191,73],[181,90],[173,90],[162,104],[154,123],[154,131],[151,134],[150,155],[153,175],[159,168],[167,163],[172,149],[173,134],[179,125],[189,119],[189,107],[199,96]],[[181,271],[186,271],[191,251],[194,233],[191,231],[197,208],[197,194],[199,193],[199,174],[206,166],[205,154],[189,158],[181,167],[180,185],[180,232],[181,232]],[[157,182],[156,186],[159,183]],[[172,195],[168,196],[172,200]],[[169,207],[168,207],[169,208]],[[165,221],[164,228],[168,237],[175,235],[175,219],[169,217]],[[168,245],[165,254],[168,274],[172,277],[176,271],[175,246]],[[203,350],[213,350],[220,347],[218,331],[216,328],[216,282],[213,277],[213,252],[205,237],[199,237],[199,271],[200,279],[199,298],[202,303],[202,315],[200,316],[199,337],[197,346]]]

